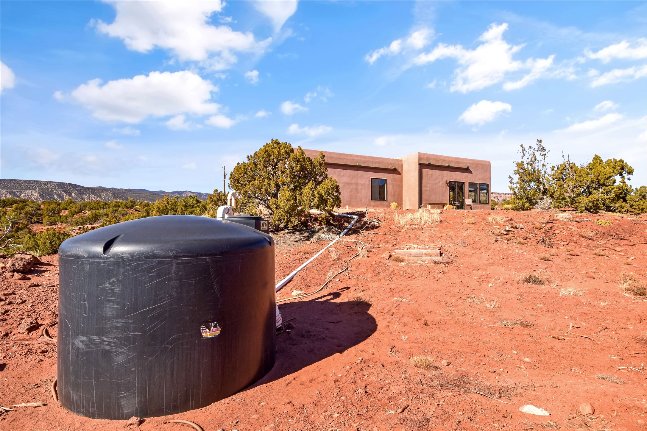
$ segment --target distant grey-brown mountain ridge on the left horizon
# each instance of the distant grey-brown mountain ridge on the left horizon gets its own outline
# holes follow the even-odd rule
[[[64,201],[67,197],[75,201],[136,201],[155,202],[164,195],[191,196],[206,200],[210,193],[176,190],[175,192],[155,192],[144,188],[107,188],[102,186],[85,187],[71,182],[35,181],[18,179],[0,179],[0,197],[17,197],[32,201]]]

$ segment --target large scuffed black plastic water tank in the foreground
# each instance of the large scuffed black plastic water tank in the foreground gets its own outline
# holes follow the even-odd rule
[[[274,242],[197,216],[126,221],[59,249],[58,395],[97,419],[176,414],[274,365]]]

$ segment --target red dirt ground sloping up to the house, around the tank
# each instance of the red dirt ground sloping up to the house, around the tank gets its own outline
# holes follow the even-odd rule
[[[512,220],[488,222],[492,215]],[[166,423],[174,418],[205,431],[647,428],[647,302],[619,287],[622,271],[647,280],[647,217],[444,211],[436,225],[406,228],[395,227],[389,211],[371,217],[379,227],[346,236],[280,292],[316,290],[356,254],[350,240],[366,244],[339,281],[280,304],[294,328],[278,336],[267,376],[233,397],[151,417],[139,428],[191,429]],[[600,219],[613,223],[596,225]],[[491,233],[505,233],[510,222],[523,225],[510,241]],[[554,247],[537,245],[542,237]],[[276,236],[277,280],[325,245],[298,238]],[[408,244],[439,244],[453,261],[384,257]],[[58,260],[41,260],[31,280],[1,281],[0,404],[47,405],[14,407],[0,415],[0,427],[123,430],[126,421],[79,417],[55,403],[56,346],[41,330],[17,332],[23,320],[37,320],[56,337]],[[528,285],[518,278],[524,272],[549,272],[552,280]],[[575,293],[560,296],[568,288]],[[434,366],[413,366],[411,357],[421,355]],[[630,366],[638,371],[620,369]],[[603,373],[624,383],[596,378]],[[595,414],[580,414],[580,403],[593,404]],[[550,415],[522,413],[524,404]]]

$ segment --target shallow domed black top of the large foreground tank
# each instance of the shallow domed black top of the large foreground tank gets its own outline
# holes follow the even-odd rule
[[[156,216],[98,228],[66,239],[61,258],[177,259],[272,247],[272,237],[233,221]]]

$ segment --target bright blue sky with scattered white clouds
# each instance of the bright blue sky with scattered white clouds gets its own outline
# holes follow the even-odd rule
[[[1,177],[222,187],[272,138],[492,161],[594,154],[647,184],[647,2],[0,3]]]

